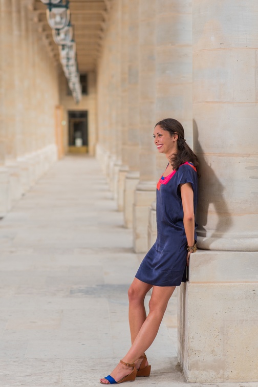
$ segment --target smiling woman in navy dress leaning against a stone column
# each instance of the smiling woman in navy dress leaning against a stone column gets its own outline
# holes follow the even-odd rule
[[[186,281],[189,256],[197,250],[195,210],[198,159],[184,139],[183,126],[167,118],[155,125],[154,143],[168,165],[157,184],[157,240],[143,259],[128,291],[132,347],[102,384],[149,376],[145,351],[155,339],[176,286]],[[144,298],[152,289],[149,314]]]

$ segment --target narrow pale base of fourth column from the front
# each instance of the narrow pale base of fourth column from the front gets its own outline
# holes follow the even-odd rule
[[[139,183],[139,171],[129,171],[124,182],[124,227],[133,227],[133,204],[137,184]]]

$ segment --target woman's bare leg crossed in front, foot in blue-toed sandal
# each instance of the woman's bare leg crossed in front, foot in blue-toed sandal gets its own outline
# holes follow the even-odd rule
[[[152,345],[164,316],[167,303],[173,294],[175,286],[154,286],[152,296],[149,301],[149,314],[142,324],[142,327],[136,336],[132,347],[122,359],[126,363],[133,363]],[[112,371],[111,376],[116,380],[121,380],[131,372],[132,368],[118,363]],[[100,379],[103,383],[109,384],[106,379]]]

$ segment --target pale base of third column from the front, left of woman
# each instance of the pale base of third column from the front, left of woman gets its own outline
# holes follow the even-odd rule
[[[156,183],[137,185],[133,206],[134,250],[137,253],[144,253],[148,249],[148,212],[155,198]]]

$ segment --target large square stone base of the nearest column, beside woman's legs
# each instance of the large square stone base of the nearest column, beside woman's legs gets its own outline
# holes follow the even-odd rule
[[[258,381],[258,252],[199,250],[189,272],[178,303],[187,382]]]

